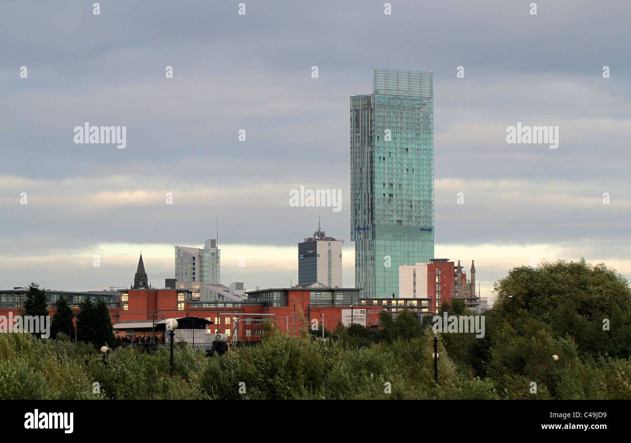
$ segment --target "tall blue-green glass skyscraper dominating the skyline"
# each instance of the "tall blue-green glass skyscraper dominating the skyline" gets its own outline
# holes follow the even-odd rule
[[[433,74],[377,69],[350,98],[351,240],[363,297],[399,296],[399,266],[433,258]]]

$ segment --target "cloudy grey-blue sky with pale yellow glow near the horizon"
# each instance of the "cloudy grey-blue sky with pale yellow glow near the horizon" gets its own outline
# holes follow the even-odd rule
[[[217,230],[221,283],[284,287],[318,214],[354,286],[349,97],[375,66],[434,75],[436,257],[474,259],[482,295],[557,259],[631,278],[628,1],[93,3],[0,4],[0,288],[126,286],[140,251],[163,287]],[[74,143],[85,122],[126,147]],[[558,148],[507,143],[517,122]]]

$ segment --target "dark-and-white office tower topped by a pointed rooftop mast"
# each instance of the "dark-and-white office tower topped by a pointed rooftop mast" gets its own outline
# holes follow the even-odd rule
[[[326,237],[318,220],[313,237],[298,243],[298,285],[319,282],[329,288],[341,288],[343,243]]]

